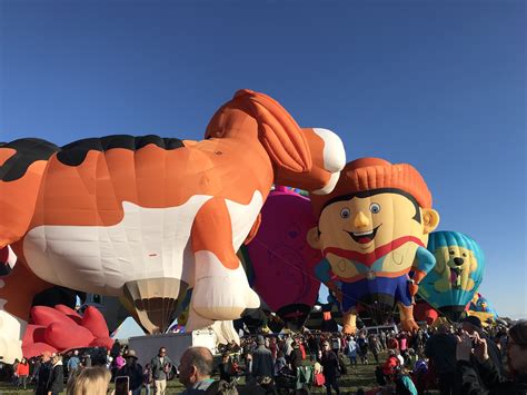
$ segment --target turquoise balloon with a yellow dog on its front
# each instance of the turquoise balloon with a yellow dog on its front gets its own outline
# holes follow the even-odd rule
[[[484,253],[470,237],[443,230],[430,234],[428,250],[436,257],[436,266],[422,280],[419,295],[457,322],[481,283]]]

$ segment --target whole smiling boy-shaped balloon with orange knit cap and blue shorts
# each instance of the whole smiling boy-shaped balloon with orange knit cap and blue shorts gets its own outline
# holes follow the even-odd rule
[[[311,203],[319,219],[308,239],[324,255],[316,271],[340,293],[344,330],[355,332],[350,317],[359,308],[382,323],[395,303],[402,328],[416,329],[412,296],[435,265],[426,245],[439,223],[420,174],[407,164],[357,159],[331,194],[311,195]]]

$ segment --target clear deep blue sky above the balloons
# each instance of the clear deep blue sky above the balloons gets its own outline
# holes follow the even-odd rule
[[[0,1],[0,140],[199,139],[239,88],[410,162],[527,317],[525,1]]]

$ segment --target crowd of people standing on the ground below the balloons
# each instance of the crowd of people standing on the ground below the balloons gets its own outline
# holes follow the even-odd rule
[[[246,336],[240,345],[231,342],[222,347],[219,364],[213,361],[208,348],[191,347],[172,362],[161,347],[141,366],[133,349],[116,344],[103,361],[93,362],[78,352],[63,363],[61,355],[51,353],[22,358],[13,365],[13,384],[26,388],[34,382],[36,394],[42,395],[64,389],[68,395],[102,395],[112,378],[126,377],[130,395],[143,391],[163,395],[168,394],[167,379],[178,366],[179,382],[186,388],[182,395],[277,394],[282,388],[309,394],[316,387],[340,394],[342,377],[352,385],[361,378],[358,366],[372,364],[377,386],[357,394],[424,394],[430,389],[441,395],[527,394],[527,322],[508,330],[486,329],[477,317],[469,316],[457,327],[444,324],[415,333],[368,333],[365,328],[352,336]],[[213,378],[216,374],[219,379]],[[238,385],[240,378],[242,386]]]

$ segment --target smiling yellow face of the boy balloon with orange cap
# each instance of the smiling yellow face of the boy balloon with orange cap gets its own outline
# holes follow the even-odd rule
[[[398,192],[371,192],[328,205],[320,214],[319,229],[331,270],[352,282],[384,253],[379,274],[408,273],[417,247],[426,240],[419,208]],[[412,241],[412,243],[411,243]],[[362,266],[362,267],[361,267]],[[377,265],[379,266],[379,265]]]

